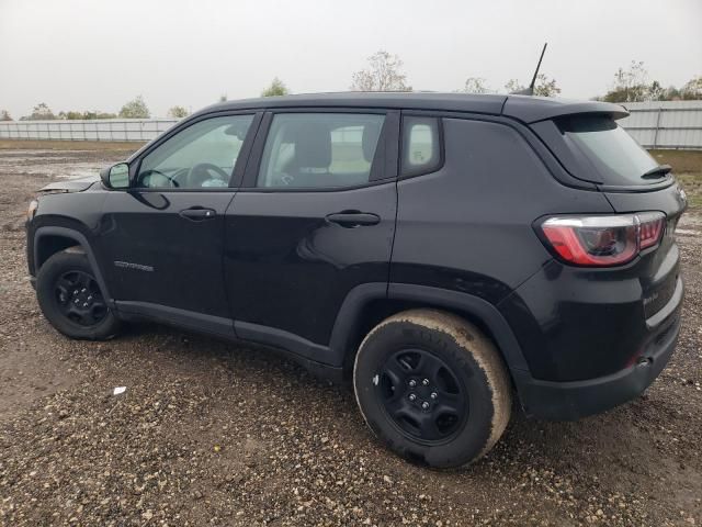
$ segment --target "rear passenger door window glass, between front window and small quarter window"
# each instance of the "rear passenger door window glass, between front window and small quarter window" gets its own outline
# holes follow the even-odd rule
[[[367,183],[384,115],[290,113],[273,117],[257,187]]]

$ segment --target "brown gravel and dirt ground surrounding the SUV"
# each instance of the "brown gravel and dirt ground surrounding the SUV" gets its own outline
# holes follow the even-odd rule
[[[158,325],[60,336],[27,281],[26,203],[128,152],[26,146],[0,145],[0,525],[702,525],[702,153],[684,158],[683,328],[660,378],[577,423],[517,414],[485,459],[438,472],[269,352]]]

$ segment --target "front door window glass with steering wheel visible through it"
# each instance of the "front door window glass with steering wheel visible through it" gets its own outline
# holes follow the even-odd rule
[[[213,117],[179,132],[141,160],[137,187],[228,187],[252,120],[253,115]]]

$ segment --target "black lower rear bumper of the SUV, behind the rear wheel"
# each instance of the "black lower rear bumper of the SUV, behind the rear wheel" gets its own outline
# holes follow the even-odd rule
[[[660,323],[634,366],[609,375],[570,382],[542,381],[525,371],[513,372],[525,413],[541,419],[575,421],[638,396],[660,374],[678,341],[682,282],[679,288],[675,310]]]

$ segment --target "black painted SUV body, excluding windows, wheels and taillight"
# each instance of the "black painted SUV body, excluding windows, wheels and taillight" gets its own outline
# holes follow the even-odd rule
[[[386,114],[372,180],[347,189],[256,189],[271,115],[291,111]],[[495,339],[529,414],[579,417],[653,382],[675,347],[682,300],[670,233],[634,261],[605,269],[565,265],[539,238],[534,223],[546,215],[661,211],[672,231],[684,209],[673,180],[611,189],[581,177],[585,168],[557,144],[551,120],[592,112],[626,114],[604,103],[501,96],[224,103],[128,162],[134,173],[151,148],[192,122],[252,113],[230,188],[67,183],[66,193],[42,195],[27,223],[30,272],[53,251],[81,245],[121,316],[282,348],[332,378],[343,375],[369,325],[383,316],[414,306],[452,311]],[[407,115],[440,119],[442,162],[431,173],[399,173]],[[212,217],[181,214],[193,208],[212,210]],[[329,221],[336,213],[376,221],[349,227]],[[636,357],[648,361],[632,365]]]

